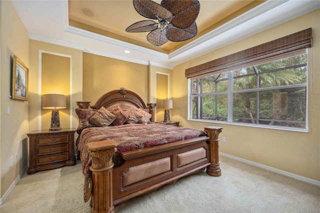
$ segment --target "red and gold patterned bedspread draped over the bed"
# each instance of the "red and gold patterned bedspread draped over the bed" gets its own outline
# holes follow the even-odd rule
[[[82,172],[84,174],[84,200],[86,200],[89,181],[92,178],[89,169],[91,157],[88,154],[86,143],[105,139],[116,141],[118,146],[116,153],[113,155],[113,162],[117,165],[123,161],[119,156],[121,152],[203,135],[206,135],[203,130],[160,123],[149,123],[146,125],[134,123],[83,129],[76,145],[80,151]]]

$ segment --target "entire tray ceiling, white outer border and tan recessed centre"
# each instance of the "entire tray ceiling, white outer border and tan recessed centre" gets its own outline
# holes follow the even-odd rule
[[[30,39],[165,68],[320,7],[319,0],[199,0],[197,35],[186,41],[154,46],[146,40],[147,32],[125,32],[132,23],[147,19],[135,11],[131,0],[11,2]]]

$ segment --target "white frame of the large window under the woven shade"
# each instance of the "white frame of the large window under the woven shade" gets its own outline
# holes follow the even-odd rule
[[[242,89],[242,90],[233,90],[233,70],[238,69],[238,68],[245,68],[248,66],[255,66],[261,63],[265,63],[265,62],[270,62],[270,61],[274,61],[276,59],[280,59],[280,58],[286,58],[286,57],[290,57],[290,56],[294,56],[294,55],[299,55],[299,54],[303,54],[306,53],[307,59],[306,59],[306,82],[305,83],[299,83],[299,84],[292,84],[292,85],[279,85],[279,86],[272,86],[272,87],[259,87],[259,88],[251,88],[251,89]],[[261,127],[261,128],[270,128],[270,129],[282,129],[282,130],[291,130],[291,131],[301,131],[301,132],[308,132],[308,87],[309,87],[309,75],[311,75],[311,80],[312,80],[312,69],[309,70],[309,67],[311,67],[311,61],[310,58],[312,58],[311,55],[311,51],[309,51],[308,48],[306,49],[302,49],[302,50],[298,50],[298,51],[294,51],[291,53],[287,53],[287,54],[283,54],[281,56],[276,56],[276,57],[270,57],[267,59],[264,59],[262,61],[256,61],[254,62],[254,64],[244,64],[242,65],[242,67],[236,67],[236,68],[232,68],[232,70],[222,70],[220,71],[220,73],[222,72],[228,72],[228,91],[223,91],[223,92],[211,92],[211,93],[205,93],[205,94],[200,94],[197,96],[207,96],[207,95],[218,95],[218,94],[225,94],[227,93],[227,98],[228,98],[228,103],[227,103],[227,121],[221,121],[221,120],[209,120],[209,119],[201,119],[201,118],[192,118],[192,97],[194,97],[194,95],[192,95],[192,80],[200,78],[201,76],[198,77],[194,77],[194,78],[188,78],[188,120],[191,121],[200,121],[200,122],[211,122],[211,123],[225,123],[225,124],[231,124],[231,125],[240,125],[240,126],[251,126],[251,127]],[[309,73],[309,71],[311,73]],[[267,71],[268,72],[268,71]],[[264,72],[257,72],[258,74],[262,74]],[[211,74],[207,74],[206,76],[210,76],[212,74],[216,74],[216,73],[211,73]],[[247,74],[245,76],[249,76],[252,75],[252,73]],[[243,75],[241,75],[243,77]],[[203,77],[203,76],[202,76]],[[298,127],[287,127],[287,126],[278,126],[278,125],[266,125],[266,124],[253,124],[253,123],[241,123],[241,122],[233,122],[232,118],[233,118],[233,94],[234,93],[240,93],[240,92],[250,92],[250,91],[265,91],[265,90],[274,90],[274,89],[283,89],[283,88],[298,88],[298,87],[305,87],[305,128],[298,128]],[[312,84],[311,84],[312,87]],[[258,94],[257,94],[258,96]],[[258,101],[258,99],[256,100]],[[257,110],[257,112],[259,112],[259,110]]]

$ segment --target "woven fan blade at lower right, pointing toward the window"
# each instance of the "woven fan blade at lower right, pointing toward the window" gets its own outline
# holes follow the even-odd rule
[[[178,42],[188,40],[194,37],[197,31],[198,29],[195,22],[193,22],[189,27],[184,29],[169,24],[166,30],[166,37],[170,41]]]

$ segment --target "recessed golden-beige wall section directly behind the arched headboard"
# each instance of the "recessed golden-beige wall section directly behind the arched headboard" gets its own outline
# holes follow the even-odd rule
[[[147,102],[148,66],[83,53],[83,101],[95,104],[104,93],[125,87],[140,95]]]

